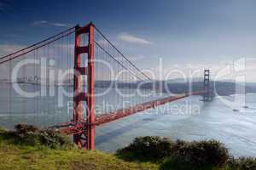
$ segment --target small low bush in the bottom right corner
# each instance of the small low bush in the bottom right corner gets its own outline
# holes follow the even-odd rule
[[[228,167],[230,170],[255,170],[256,158],[241,157],[235,159],[234,157],[230,157],[230,160],[228,161]]]

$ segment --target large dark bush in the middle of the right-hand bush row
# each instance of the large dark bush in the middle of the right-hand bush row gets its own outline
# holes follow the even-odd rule
[[[172,147],[172,156],[195,167],[223,167],[229,159],[224,144],[216,140],[184,142],[178,140]]]

